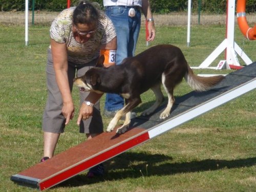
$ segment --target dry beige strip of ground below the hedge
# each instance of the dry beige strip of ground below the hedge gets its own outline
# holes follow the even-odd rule
[[[50,25],[52,20],[58,15],[59,12],[46,12],[46,11],[35,11],[34,12],[34,24]],[[32,24],[32,12],[29,12],[29,24]],[[187,13],[173,13],[164,15],[154,15],[155,25],[187,25]],[[248,24],[253,25],[256,20],[256,14],[246,15]],[[145,17],[141,17],[142,25],[145,23]],[[199,24],[198,14],[191,15],[191,25]],[[237,22],[235,18],[234,22]],[[25,13],[24,12],[0,12],[0,23],[5,25],[25,25]],[[225,24],[226,15],[200,15],[200,24],[211,25],[211,24]]]

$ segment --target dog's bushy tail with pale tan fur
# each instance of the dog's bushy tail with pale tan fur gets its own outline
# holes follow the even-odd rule
[[[225,78],[223,75],[217,75],[212,77],[197,76],[194,74],[193,70],[189,66],[187,66],[187,68],[188,72],[185,74],[184,78],[189,86],[196,91],[206,91]]]

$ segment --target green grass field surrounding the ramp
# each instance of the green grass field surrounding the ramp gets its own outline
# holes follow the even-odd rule
[[[147,48],[144,34],[142,28],[137,53]],[[38,163],[43,152],[41,116],[47,98],[45,67],[49,26],[30,27],[29,46],[25,46],[24,36],[24,27],[0,26],[1,192],[36,191],[14,184],[10,176]],[[190,66],[199,66],[224,38],[223,25],[196,25],[191,28],[190,47],[187,47],[185,26],[158,26],[156,39],[150,46],[176,45]],[[255,41],[246,40],[238,28],[235,41],[252,61],[256,60]],[[211,66],[223,58],[221,54]],[[232,70],[195,70],[197,74],[230,72]],[[183,81],[175,96],[190,91]],[[255,93],[255,90],[247,93],[105,162],[108,173],[103,178],[88,179],[84,172],[51,191],[255,191]],[[73,97],[77,112],[76,89]],[[142,100],[149,103],[154,97],[148,91]],[[138,114],[142,110],[142,106],[136,108]],[[109,120],[104,118],[105,127]],[[78,133],[75,122],[76,118],[66,127],[55,154],[86,139]]]

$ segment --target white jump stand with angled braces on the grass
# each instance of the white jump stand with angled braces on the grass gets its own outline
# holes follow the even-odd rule
[[[237,55],[239,55],[246,65],[252,63],[251,59],[244,51],[234,42],[234,9],[235,0],[227,1],[227,19],[226,19],[226,38],[221,44],[201,63],[199,67],[191,67],[193,69],[238,69],[240,63]],[[210,64],[224,51],[225,60],[221,60],[217,67],[209,67]]]

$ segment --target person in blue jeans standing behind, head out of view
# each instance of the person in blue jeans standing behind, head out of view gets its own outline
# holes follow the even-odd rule
[[[103,0],[105,13],[112,20],[117,34],[116,65],[126,57],[134,56],[141,25],[142,10],[148,25],[147,41],[156,34],[154,19],[148,0]],[[123,108],[124,100],[117,94],[106,94],[104,115],[114,117]]]

